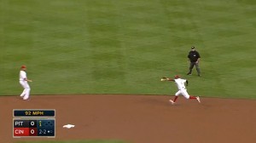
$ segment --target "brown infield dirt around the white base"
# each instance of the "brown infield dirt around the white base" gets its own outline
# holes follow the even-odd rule
[[[0,97],[0,142],[125,140],[131,143],[241,143],[256,140],[256,100],[201,98],[177,105],[168,95],[37,95]],[[55,139],[13,138],[13,109],[55,109]],[[73,129],[62,126],[75,124]]]

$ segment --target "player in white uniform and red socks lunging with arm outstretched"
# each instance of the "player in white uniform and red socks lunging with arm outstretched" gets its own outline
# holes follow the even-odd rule
[[[174,100],[170,100],[170,102],[173,104],[175,104],[178,95],[183,95],[186,99],[190,99],[190,100],[198,100],[199,103],[201,103],[200,98],[197,96],[191,96],[188,94],[187,89],[185,87],[185,83],[188,86],[189,85],[189,81],[186,79],[182,79],[179,76],[175,76],[175,79],[172,78],[167,78],[167,77],[162,77],[161,81],[172,81],[175,82],[177,85],[177,93],[175,94]]]

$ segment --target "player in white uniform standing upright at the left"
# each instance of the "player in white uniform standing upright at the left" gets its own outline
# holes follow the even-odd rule
[[[32,80],[27,79],[26,77],[26,66],[20,67],[20,85],[23,87],[23,92],[20,94],[20,97],[23,98],[23,100],[29,100],[29,94],[30,94],[30,86],[27,82],[32,82]]]

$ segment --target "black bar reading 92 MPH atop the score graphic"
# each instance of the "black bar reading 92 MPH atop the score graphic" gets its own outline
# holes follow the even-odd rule
[[[55,110],[14,110],[14,117],[55,117]]]

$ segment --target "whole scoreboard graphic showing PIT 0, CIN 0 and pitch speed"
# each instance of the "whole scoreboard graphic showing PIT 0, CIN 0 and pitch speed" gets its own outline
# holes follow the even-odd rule
[[[13,137],[55,138],[54,109],[15,109]]]

